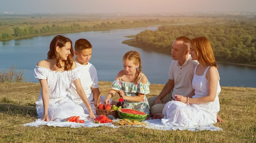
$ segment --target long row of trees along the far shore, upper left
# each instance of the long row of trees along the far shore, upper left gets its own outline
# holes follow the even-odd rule
[[[34,29],[34,26],[29,28],[13,28],[14,34],[3,32],[0,39],[12,39],[17,37],[33,36],[33,35],[42,35],[50,34],[55,32],[75,32],[75,31],[88,31],[88,30],[101,30],[106,28],[126,28],[132,26],[148,26],[152,24],[168,24],[167,21],[160,21],[159,19],[148,19],[148,20],[134,20],[129,22],[123,20],[120,22],[102,22],[101,24],[95,24],[93,26],[80,26],[80,24],[73,23],[70,26],[59,26],[52,24],[52,26],[44,26],[41,29]]]

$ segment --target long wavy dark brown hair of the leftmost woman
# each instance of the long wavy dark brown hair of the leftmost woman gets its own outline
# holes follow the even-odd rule
[[[72,46],[73,44],[72,44],[72,41],[69,38],[64,37],[62,35],[55,36],[52,39],[51,43],[50,43],[50,50],[47,54],[48,59],[57,58],[56,67],[62,68],[62,66],[59,62],[60,58],[58,56],[58,52],[56,51],[56,47],[59,46],[60,48],[63,48],[67,42],[70,42],[71,49],[70,49],[70,55],[68,55],[67,60],[63,61],[65,63],[64,64],[64,70],[65,71],[68,71],[68,70],[72,69],[73,57],[74,57],[74,50],[73,50],[73,46]]]

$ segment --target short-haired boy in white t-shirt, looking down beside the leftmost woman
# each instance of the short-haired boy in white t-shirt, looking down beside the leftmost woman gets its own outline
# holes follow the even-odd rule
[[[74,47],[75,47],[74,54],[76,55],[76,59],[75,59],[76,66],[82,74],[80,78],[81,85],[83,87],[83,90],[85,91],[85,94],[90,103],[90,106],[92,107],[94,114],[96,114],[95,110],[96,110],[100,91],[99,91],[99,85],[98,85],[97,70],[91,63],[89,63],[92,57],[92,45],[86,39],[78,39],[76,40]],[[85,104],[77,94],[74,82],[72,82],[71,88],[69,90],[69,94],[72,95],[72,99],[77,105],[80,105],[85,109],[85,114],[87,114],[88,109],[86,108]],[[101,96],[101,100],[99,101],[99,104],[103,103],[104,100],[105,100],[105,97]]]

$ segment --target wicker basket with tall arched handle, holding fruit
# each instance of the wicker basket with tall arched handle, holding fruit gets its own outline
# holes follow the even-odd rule
[[[105,90],[103,90],[100,94],[99,94],[99,98],[98,98],[98,102],[97,102],[97,107],[96,107],[96,114],[97,115],[106,115],[106,116],[108,116],[108,115],[113,115],[115,118],[119,118],[118,117],[118,112],[117,112],[117,110],[105,110],[105,109],[98,109],[98,106],[99,106],[99,99],[100,99],[100,97],[101,97],[101,94],[102,93],[104,93],[105,91],[110,91],[110,90],[114,90],[114,91],[116,91],[117,93],[118,93],[118,91],[117,90],[115,90],[115,89],[105,89]]]

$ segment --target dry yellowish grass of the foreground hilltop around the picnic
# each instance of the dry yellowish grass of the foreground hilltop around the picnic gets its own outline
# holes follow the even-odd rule
[[[100,91],[110,88],[111,82],[99,82]],[[164,85],[150,85],[148,97],[157,95]],[[35,121],[34,102],[40,91],[39,83],[0,83],[0,143],[52,142],[128,142],[128,143],[255,143],[256,89],[222,87],[220,117],[217,123],[223,131],[152,130],[146,128],[69,128],[24,127]],[[113,99],[117,99],[115,96]]]

